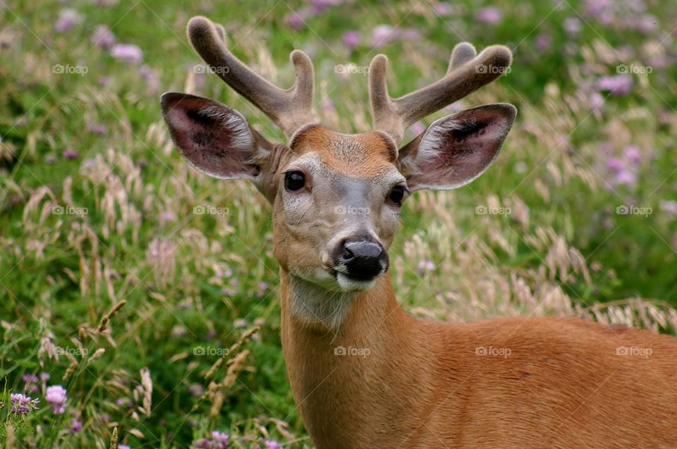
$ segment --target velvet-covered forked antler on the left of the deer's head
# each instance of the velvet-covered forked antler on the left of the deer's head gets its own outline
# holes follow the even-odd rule
[[[226,33],[221,25],[197,16],[188,22],[188,39],[202,59],[238,94],[269,116],[291,140],[299,128],[314,123],[312,118],[312,61],[300,50],[291,52],[296,81],[288,90],[281,90],[245,66],[225,44]]]

